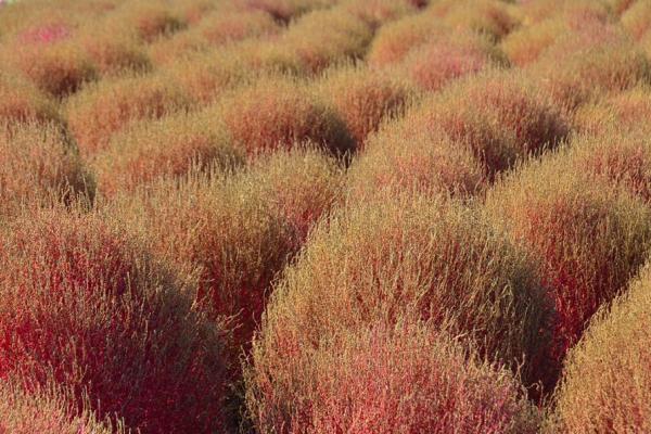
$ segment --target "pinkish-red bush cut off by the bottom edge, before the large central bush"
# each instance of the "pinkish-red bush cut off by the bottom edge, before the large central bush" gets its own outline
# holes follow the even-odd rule
[[[427,327],[361,328],[285,350],[254,348],[247,406],[259,433],[536,432],[510,372]]]

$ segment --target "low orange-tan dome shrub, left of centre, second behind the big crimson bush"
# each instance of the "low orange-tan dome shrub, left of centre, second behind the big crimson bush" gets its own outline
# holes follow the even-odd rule
[[[142,120],[113,136],[91,163],[98,189],[112,196],[157,178],[191,170],[233,167],[243,162],[225,128],[209,112]]]

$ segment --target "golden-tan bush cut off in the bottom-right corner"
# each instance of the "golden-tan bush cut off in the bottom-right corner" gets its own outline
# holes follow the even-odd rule
[[[570,353],[556,416],[562,433],[651,430],[651,273],[592,319]]]

